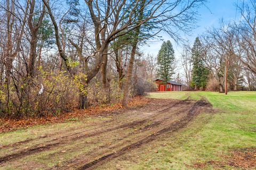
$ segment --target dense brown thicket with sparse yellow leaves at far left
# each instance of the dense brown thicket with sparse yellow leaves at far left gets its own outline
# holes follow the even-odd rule
[[[14,81],[15,80],[15,81]],[[38,94],[43,86],[42,94]],[[78,88],[69,74],[37,71],[35,77],[13,79],[0,87],[1,113],[7,117],[37,117],[59,115],[77,106]]]

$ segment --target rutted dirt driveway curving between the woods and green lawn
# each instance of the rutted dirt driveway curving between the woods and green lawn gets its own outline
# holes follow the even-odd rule
[[[110,113],[102,121],[82,122],[76,127],[2,145],[0,167],[94,169],[187,126],[194,116],[209,108],[211,105],[205,100],[153,99],[140,108]]]

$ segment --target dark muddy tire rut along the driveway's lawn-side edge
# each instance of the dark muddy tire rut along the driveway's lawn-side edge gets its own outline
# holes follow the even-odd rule
[[[206,101],[203,100],[199,100],[196,101],[196,103],[193,105],[193,107],[191,107],[188,111],[187,116],[183,117],[180,121],[176,121],[174,123],[172,123],[170,126],[167,126],[166,128],[163,128],[159,131],[157,131],[156,133],[153,133],[151,135],[148,135],[146,138],[143,138],[139,141],[133,142],[130,145],[127,145],[117,151],[111,152],[109,154],[103,155],[98,159],[93,160],[92,162],[86,163],[80,167],[78,167],[77,169],[92,169],[95,168],[103,163],[105,163],[106,161],[109,161],[111,159],[114,159],[116,157],[122,156],[124,155],[127,151],[131,150],[131,149],[135,149],[140,147],[143,144],[146,144],[150,141],[153,141],[156,139],[156,137],[158,137],[159,135],[165,134],[165,133],[170,133],[170,132],[174,132],[177,131],[181,128],[185,128],[185,126],[192,120],[192,118],[199,114],[199,110],[198,108],[201,107],[211,107],[211,105],[209,103],[207,103]],[[68,166],[68,165],[67,165]],[[57,169],[66,169],[67,167],[60,167]]]

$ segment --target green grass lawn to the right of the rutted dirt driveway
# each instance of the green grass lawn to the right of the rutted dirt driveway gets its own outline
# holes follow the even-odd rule
[[[166,137],[164,141],[144,147],[145,152],[139,154],[137,164],[126,162],[130,164],[127,169],[241,169],[229,165],[233,160],[230,157],[232,151],[239,148],[256,149],[256,92],[229,92],[228,95],[204,91],[148,94],[151,98],[166,99],[185,99],[188,96],[191,99],[206,98],[215,112],[200,114],[187,128]]]

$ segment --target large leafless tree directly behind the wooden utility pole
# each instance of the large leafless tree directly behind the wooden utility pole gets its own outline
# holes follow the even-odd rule
[[[219,28],[207,30],[206,35],[202,36],[206,65],[218,80],[220,92],[223,91],[225,84],[225,94],[228,90],[228,78],[234,78],[231,83],[235,84],[234,89],[237,90],[238,75],[241,74],[241,69],[234,69],[241,67],[237,60],[242,54],[235,35],[233,25],[221,20]],[[228,75],[228,71],[231,76]]]

